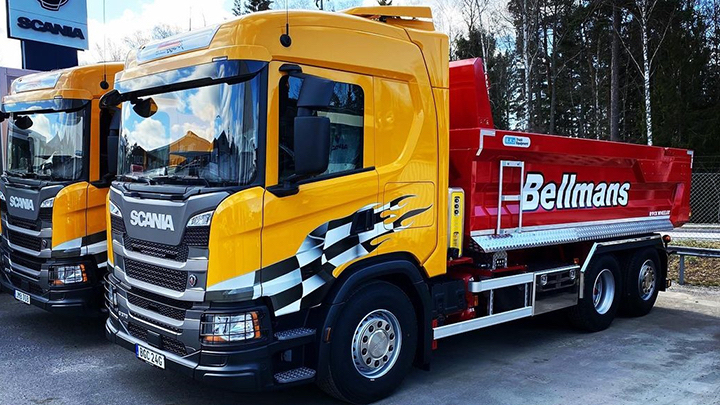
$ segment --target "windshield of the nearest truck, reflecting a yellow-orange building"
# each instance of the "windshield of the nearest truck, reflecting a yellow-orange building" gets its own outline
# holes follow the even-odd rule
[[[123,104],[121,175],[233,186],[257,174],[259,78],[155,94]]]

